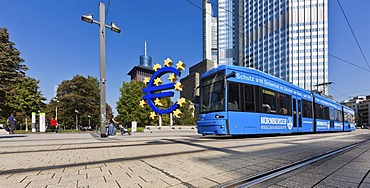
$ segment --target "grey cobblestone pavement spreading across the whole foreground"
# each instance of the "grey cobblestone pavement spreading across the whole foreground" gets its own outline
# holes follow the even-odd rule
[[[106,139],[95,133],[0,135],[0,187],[212,187],[360,142],[369,135],[369,130],[239,139],[202,137],[195,131]],[[307,176],[297,177],[302,181],[292,175],[269,186],[303,186],[312,175],[324,178],[313,185],[335,187],[330,182],[348,179],[346,174],[355,169],[360,169],[359,180],[368,175],[368,149],[357,147],[343,157],[321,162]],[[340,181],[350,182],[347,179]],[[369,180],[365,178],[363,185]]]

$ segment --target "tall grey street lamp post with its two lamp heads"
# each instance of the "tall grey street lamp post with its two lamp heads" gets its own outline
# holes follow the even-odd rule
[[[93,20],[92,14],[83,15],[81,19],[88,23],[94,23],[99,25],[99,33],[100,33],[100,136],[107,137],[107,130],[106,130],[106,75],[105,75],[105,28],[109,28],[110,30],[120,33],[121,29],[119,29],[113,22],[111,25],[105,24],[105,5],[103,3],[99,3],[99,21]]]

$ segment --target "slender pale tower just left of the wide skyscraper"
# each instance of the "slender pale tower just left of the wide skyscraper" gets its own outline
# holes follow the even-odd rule
[[[203,0],[203,60],[217,62],[217,18],[210,0]]]

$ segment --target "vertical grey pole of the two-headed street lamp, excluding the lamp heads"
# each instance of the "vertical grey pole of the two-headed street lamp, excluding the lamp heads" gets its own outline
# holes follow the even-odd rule
[[[99,3],[100,22],[100,137],[107,137],[106,129],[106,93],[105,93],[105,6]]]

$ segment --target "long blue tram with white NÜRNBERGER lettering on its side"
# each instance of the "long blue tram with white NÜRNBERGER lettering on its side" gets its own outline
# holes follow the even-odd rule
[[[198,133],[352,131],[351,108],[256,69],[222,65],[202,75]]]

